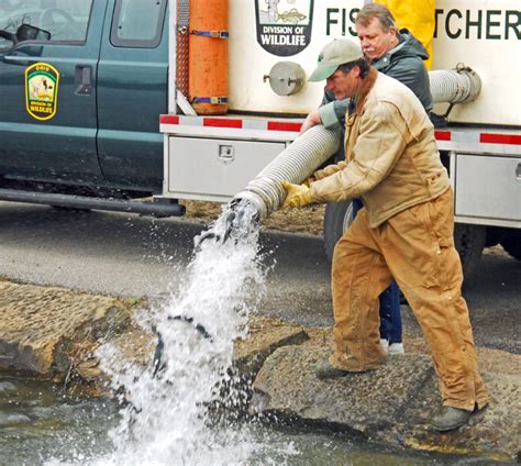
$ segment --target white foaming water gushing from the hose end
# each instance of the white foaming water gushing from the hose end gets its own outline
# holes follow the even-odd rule
[[[246,335],[266,273],[256,211],[248,203],[235,206],[232,218],[240,211],[241,222],[230,230],[229,209],[213,225],[215,235],[200,244],[179,291],[154,315],[162,343],[155,367],[143,369],[113,346],[102,348],[102,368],[126,407],[110,433],[114,452],[90,464],[244,464],[262,448],[247,426],[215,425],[209,409],[244,397],[230,389],[233,342]]]

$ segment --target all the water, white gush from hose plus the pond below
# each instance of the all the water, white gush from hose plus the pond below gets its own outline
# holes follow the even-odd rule
[[[275,430],[219,407],[230,389],[233,341],[247,334],[267,267],[255,211],[244,207],[224,243],[224,211],[179,290],[142,324],[160,336],[156,364],[140,366],[108,344],[102,369],[121,400],[73,397],[36,380],[0,377],[0,465],[422,465],[465,459],[409,454],[330,434]],[[221,241],[217,241],[221,238]],[[123,396],[124,393],[124,396]],[[228,410],[226,412],[230,412]],[[464,464],[464,463],[461,463]]]

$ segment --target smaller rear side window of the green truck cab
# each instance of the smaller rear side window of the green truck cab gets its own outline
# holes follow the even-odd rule
[[[166,0],[117,0],[110,42],[117,47],[159,45]]]

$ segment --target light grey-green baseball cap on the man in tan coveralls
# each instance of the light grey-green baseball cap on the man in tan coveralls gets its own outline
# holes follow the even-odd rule
[[[322,48],[318,65],[308,81],[323,81],[328,79],[340,65],[356,62],[364,56],[361,46],[348,38],[335,38]]]

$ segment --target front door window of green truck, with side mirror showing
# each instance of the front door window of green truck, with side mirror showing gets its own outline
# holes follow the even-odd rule
[[[0,5],[0,47],[25,41],[85,42],[91,7],[92,0],[25,0]]]

